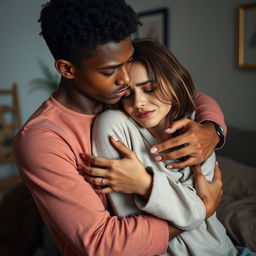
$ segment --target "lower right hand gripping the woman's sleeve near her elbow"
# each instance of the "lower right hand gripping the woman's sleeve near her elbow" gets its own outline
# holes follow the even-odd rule
[[[208,219],[216,211],[223,194],[221,170],[216,162],[212,182],[206,180],[205,176],[202,174],[200,165],[193,166],[192,171],[195,189],[197,195],[204,203],[206,209],[205,219]]]

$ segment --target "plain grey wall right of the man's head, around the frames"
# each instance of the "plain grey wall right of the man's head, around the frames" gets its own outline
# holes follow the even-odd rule
[[[198,90],[218,101],[229,125],[256,131],[256,70],[236,67],[237,8],[248,1],[127,2],[136,11],[168,7],[169,48],[189,70]]]

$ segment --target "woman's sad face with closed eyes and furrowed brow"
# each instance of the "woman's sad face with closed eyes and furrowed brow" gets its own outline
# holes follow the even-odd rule
[[[165,129],[169,124],[167,114],[171,104],[159,101],[154,94],[156,89],[157,84],[149,79],[144,65],[133,63],[131,86],[122,97],[122,105],[133,120],[150,132],[156,128]]]

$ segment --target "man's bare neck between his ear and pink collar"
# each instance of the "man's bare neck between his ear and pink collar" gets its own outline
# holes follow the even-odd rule
[[[61,80],[57,91],[53,93],[53,97],[64,107],[78,113],[97,115],[103,110],[103,104],[101,102],[95,101],[71,89],[65,80]]]

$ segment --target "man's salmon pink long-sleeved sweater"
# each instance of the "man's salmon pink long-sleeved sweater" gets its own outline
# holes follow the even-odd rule
[[[210,97],[198,94],[198,121],[223,128],[223,114]],[[166,251],[167,222],[154,216],[118,218],[107,197],[97,194],[77,171],[80,154],[91,153],[94,115],[46,100],[18,132],[16,165],[64,256],[139,256]]]

